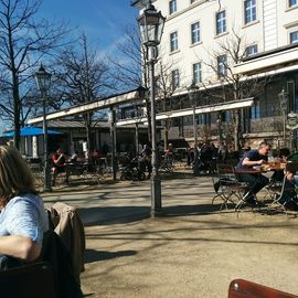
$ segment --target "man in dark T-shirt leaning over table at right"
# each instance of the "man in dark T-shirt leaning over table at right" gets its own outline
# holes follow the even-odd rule
[[[237,169],[247,170],[254,169],[254,167],[259,167],[266,162],[268,162],[268,153],[272,149],[272,146],[265,141],[260,142],[258,149],[247,151],[243,158],[240,160],[236,166]],[[245,200],[247,204],[258,204],[259,202],[256,200],[256,194],[268,184],[269,179],[263,175],[260,172],[258,173],[238,173],[238,178],[241,181],[246,182],[249,188],[248,195]]]

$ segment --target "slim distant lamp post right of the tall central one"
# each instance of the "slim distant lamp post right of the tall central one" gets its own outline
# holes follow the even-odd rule
[[[200,175],[200,169],[199,169],[199,156],[198,156],[198,130],[196,130],[196,117],[195,117],[195,99],[196,99],[196,92],[199,87],[194,84],[194,82],[191,83],[191,85],[188,87],[189,93],[189,99],[192,105],[192,123],[193,123],[193,175],[198,177]]]

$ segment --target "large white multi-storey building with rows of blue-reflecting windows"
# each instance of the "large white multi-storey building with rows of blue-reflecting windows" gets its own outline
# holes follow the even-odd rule
[[[142,9],[147,2],[131,0],[131,6]],[[249,73],[259,79],[269,77],[266,84],[264,83],[264,92],[255,92],[253,95],[255,106],[243,109],[242,132],[248,142],[265,138],[278,146],[283,139],[283,127],[280,127],[283,115],[278,94],[283,88],[289,95],[287,111],[298,111],[298,0],[156,0],[151,2],[162,15],[167,17],[159,55],[163,62],[172,63],[168,75],[174,87],[173,96],[183,96],[187,87],[194,82],[202,92],[200,97],[202,102],[199,100],[196,105],[205,104],[206,99],[203,100],[203,97],[207,97],[209,103],[216,102],[214,98],[221,94],[221,100],[224,102],[226,97],[231,98],[228,83],[235,74],[241,75],[243,81],[246,79],[245,74]],[[236,46],[236,38],[241,39],[237,54],[243,56],[235,63],[230,52],[233,52]],[[258,65],[249,66],[249,61],[257,58],[263,61],[263,64],[260,62]],[[246,62],[240,63],[245,60]],[[232,67],[235,64],[237,66]],[[240,68],[242,64],[249,64],[248,68]],[[230,73],[230,67],[233,74]],[[217,96],[214,92],[211,95],[212,91],[217,92]],[[241,96],[248,97],[244,85],[238,99]],[[225,113],[221,120],[224,129],[224,125],[230,121],[228,113]],[[180,137],[192,137],[191,129],[187,129],[189,123],[188,119],[178,121]],[[199,115],[198,124],[215,129],[210,138],[216,139],[219,116]],[[181,126],[182,130],[184,127],[182,132]],[[224,135],[227,139],[228,130]],[[287,135],[289,138],[290,134]]]

